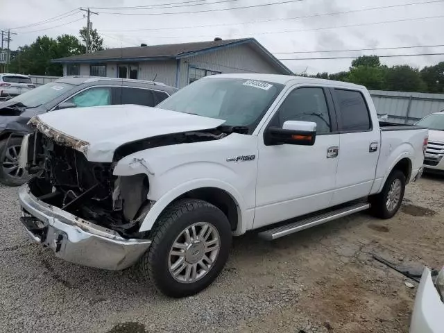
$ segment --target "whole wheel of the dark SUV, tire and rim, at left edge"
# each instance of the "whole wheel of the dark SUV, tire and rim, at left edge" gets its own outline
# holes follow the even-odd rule
[[[11,137],[0,141],[0,182],[3,185],[19,186],[28,180],[28,173],[19,167],[22,137]]]

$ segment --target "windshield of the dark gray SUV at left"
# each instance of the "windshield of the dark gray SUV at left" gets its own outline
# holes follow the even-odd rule
[[[23,103],[26,108],[35,108],[56,99],[58,96],[65,94],[65,92],[73,89],[74,87],[76,86],[68,85],[67,83],[51,82],[29,90],[28,92],[25,92],[19,96],[15,96],[9,101]]]

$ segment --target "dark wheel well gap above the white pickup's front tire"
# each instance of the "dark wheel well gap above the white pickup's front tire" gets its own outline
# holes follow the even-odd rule
[[[237,230],[239,223],[239,214],[237,210],[237,203],[232,196],[223,189],[216,187],[201,187],[200,189],[193,189],[185,194],[182,194],[178,199],[192,198],[205,200],[219,208],[227,216],[230,221],[231,230]],[[176,200],[178,200],[176,199]]]

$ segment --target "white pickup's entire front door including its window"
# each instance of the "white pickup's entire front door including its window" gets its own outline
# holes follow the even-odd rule
[[[314,121],[314,146],[266,146],[259,134],[254,228],[330,206],[340,142],[328,96],[321,87],[293,89],[268,123],[282,128],[287,120]]]

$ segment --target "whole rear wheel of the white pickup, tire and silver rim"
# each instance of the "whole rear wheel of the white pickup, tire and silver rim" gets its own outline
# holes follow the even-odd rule
[[[394,170],[388,176],[381,193],[371,196],[370,211],[379,219],[391,219],[401,207],[405,191],[405,176]]]

